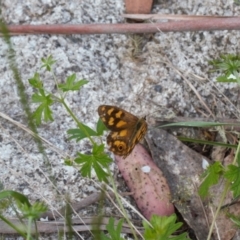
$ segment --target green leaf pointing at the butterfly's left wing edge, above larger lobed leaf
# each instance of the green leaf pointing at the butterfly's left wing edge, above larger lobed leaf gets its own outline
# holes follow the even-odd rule
[[[70,135],[69,139],[76,139],[78,142],[86,137],[98,136],[98,133],[87,125],[82,123],[82,127],[84,128],[84,131],[79,128],[69,129],[67,131],[67,134]]]

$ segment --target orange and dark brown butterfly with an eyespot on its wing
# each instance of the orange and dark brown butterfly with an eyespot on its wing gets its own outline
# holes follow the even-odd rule
[[[111,130],[107,137],[109,150],[116,155],[127,157],[147,131],[145,119],[137,118],[119,107],[110,105],[99,106],[98,114]]]

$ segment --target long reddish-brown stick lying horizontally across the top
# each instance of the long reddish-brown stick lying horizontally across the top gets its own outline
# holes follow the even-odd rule
[[[9,25],[10,34],[110,34],[240,30],[240,17],[138,24]],[[1,31],[1,29],[0,29]]]

